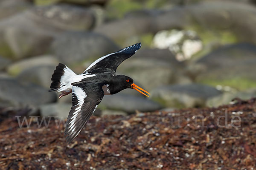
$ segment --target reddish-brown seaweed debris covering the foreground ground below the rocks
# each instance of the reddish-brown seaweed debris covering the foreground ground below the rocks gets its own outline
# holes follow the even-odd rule
[[[0,109],[3,169],[255,169],[256,100],[131,116],[92,116],[67,144],[64,125],[18,124]],[[22,114],[20,114],[22,113]],[[2,114],[2,115],[1,115]],[[4,116],[3,116],[4,114]],[[19,110],[19,115],[24,113]],[[23,117],[20,118],[20,120]],[[96,120],[97,119],[97,120]],[[29,122],[29,119],[28,119]]]

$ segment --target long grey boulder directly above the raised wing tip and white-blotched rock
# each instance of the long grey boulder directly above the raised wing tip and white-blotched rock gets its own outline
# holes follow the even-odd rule
[[[185,10],[181,7],[172,9],[137,11],[135,16],[129,14],[128,17],[122,20],[113,20],[98,26],[94,31],[113,40],[121,41],[134,35],[155,34],[158,31],[170,28],[185,28],[189,24],[189,17],[186,16]]]

